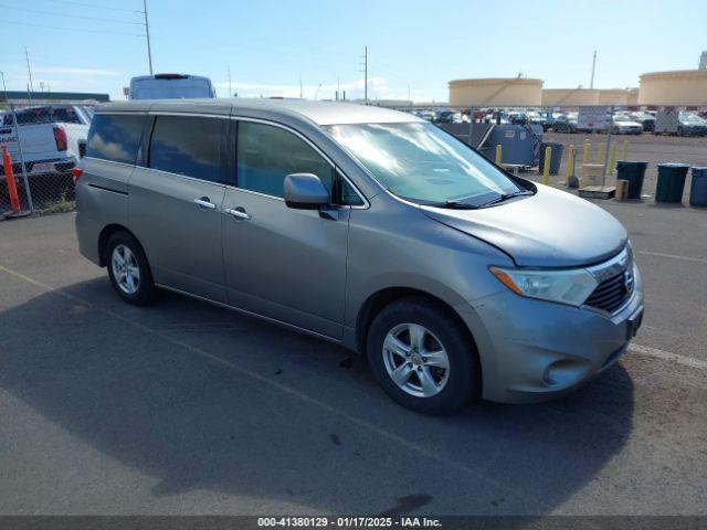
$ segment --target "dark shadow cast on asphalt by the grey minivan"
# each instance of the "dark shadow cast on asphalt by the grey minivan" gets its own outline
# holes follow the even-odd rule
[[[270,511],[542,515],[632,431],[621,364],[558,401],[426,417],[388,400],[337,346],[177,295],[134,308],[105,279],[63,293],[0,312],[0,385],[156,477],[156,502],[212,490]],[[214,320],[231,324],[209,329]]]

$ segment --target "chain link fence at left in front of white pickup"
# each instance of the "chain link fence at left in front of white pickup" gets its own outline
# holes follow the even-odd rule
[[[85,105],[10,104],[1,112],[0,213],[17,213],[18,205],[21,214],[74,209],[71,171],[85,148],[92,118],[93,109]],[[9,167],[14,187],[8,186]]]

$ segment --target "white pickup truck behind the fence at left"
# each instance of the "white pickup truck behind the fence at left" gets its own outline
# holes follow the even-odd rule
[[[93,112],[82,105],[50,105],[6,110],[0,114],[0,146],[8,146],[15,176],[21,173],[22,159],[30,176],[52,176],[72,170],[82,156],[88,136]],[[18,130],[19,129],[19,130]],[[4,168],[0,163],[0,176]]]

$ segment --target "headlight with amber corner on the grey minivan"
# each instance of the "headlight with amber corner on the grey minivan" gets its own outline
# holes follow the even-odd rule
[[[599,285],[597,278],[583,268],[526,271],[490,267],[489,271],[516,295],[570,306],[581,306]]]

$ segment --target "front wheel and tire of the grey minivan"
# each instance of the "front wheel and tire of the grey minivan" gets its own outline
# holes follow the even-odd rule
[[[449,309],[425,298],[384,307],[369,329],[367,356],[386,393],[413,411],[445,414],[479,394],[473,341]]]

